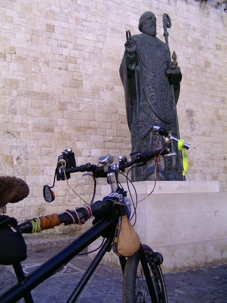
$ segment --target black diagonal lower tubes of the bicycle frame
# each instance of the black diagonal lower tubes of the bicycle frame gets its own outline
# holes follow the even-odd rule
[[[114,224],[113,224],[114,225]],[[107,239],[100,248],[98,254],[84,273],[80,282],[72,292],[68,303],[75,302],[76,298],[79,296],[83,287],[86,285],[87,281],[91,277],[95,268],[101,261],[105,252],[110,250],[111,243],[114,236],[115,228],[112,226],[111,217],[104,218],[100,222],[96,223],[93,227],[79,236],[75,241],[70,243],[64,249],[62,249],[58,254],[50,258],[48,261],[40,265],[32,273],[27,275],[22,283],[17,283],[0,295],[1,303],[14,303],[20,300],[22,297],[26,296],[28,292],[41,284],[44,280],[52,276],[54,273],[58,272],[64,265],[66,265],[70,260],[72,260],[76,255],[78,255],[84,248],[94,242],[98,237],[105,234],[108,228],[112,227]]]

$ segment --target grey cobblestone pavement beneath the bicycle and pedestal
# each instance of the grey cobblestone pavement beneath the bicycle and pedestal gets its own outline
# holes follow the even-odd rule
[[[22,263],[25,273],[30,273],[72,240],[74,238],[68,237],[26,241],[28,258]],[[78,256],[71,260],[59,273],[32,291],[34,302],[66,302],[91,260],[87,256]],[[227,264],[166,273],[164,279],[169,303],[227,302]],[[122,281],[121,269],[101,263],[82,297],[79,296],[79,302],[120,303]],[[13,268],[0,266],[0,293],[16,282]],[[24,301],[21,299],[19,302]]]

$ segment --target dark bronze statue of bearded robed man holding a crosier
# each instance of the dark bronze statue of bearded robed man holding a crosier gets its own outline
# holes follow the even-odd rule
[[[132,153],[163,147],[163,138],[154,125],[164,126],[170,134],[179,136],[176,104],[180,94],[181,70],[174,52],[172,59],[167,40],[171,20],[163,15],[165,43],[156,37],[156,18],[152,12],[139,20],[140,35],[126,31],[125,54],[120,76],[125,90],[126,114],[131,131]],[[174,151],[177,151],[176,143]],[[154,180],[155,162],[136,167],[133,181]],[[184,180],[182,155],[162,158],[157,180]]]

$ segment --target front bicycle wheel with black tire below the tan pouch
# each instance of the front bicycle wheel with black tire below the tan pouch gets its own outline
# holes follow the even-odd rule
[[[146,260],[150,259],[153,250],[142,244]],[[154,285],[158,303],[167,303],[164,278],[161,267],[148,262],[151,279]],[[123,303],[146,303],[152,302],[147,283],[142,271],[138,252],[129,257],[126,262],[123,280]]]

